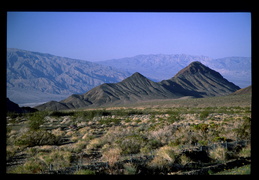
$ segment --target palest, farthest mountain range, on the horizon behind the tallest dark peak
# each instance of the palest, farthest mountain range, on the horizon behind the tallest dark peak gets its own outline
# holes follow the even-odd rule
[[[193,61],[200,61],[242,88],[251,85],[250,57],[212,59],[207,56],[192,56],[186,54],[155,54],[112,59],[98,63],[112,66],[131,74],[140,72],[144,76],[158,82],[169,79]]]

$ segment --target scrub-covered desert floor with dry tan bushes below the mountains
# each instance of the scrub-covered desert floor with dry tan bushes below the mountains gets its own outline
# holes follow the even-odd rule
[[[6,173],[249,174],[250,124],[251,94],[8,113]]]

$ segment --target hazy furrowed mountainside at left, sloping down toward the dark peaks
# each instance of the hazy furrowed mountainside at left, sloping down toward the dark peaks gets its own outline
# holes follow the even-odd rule
[[[127,76],[129,73],[89,61],[7,49],[7,96],[18,104],[61,100]]]

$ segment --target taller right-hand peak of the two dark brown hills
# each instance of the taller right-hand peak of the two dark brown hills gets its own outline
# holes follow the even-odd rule
[[[161,82],[169,90],[181,92],[183,95],[210,97],[227,95],[240,89],[223,76],[195,61],[179,71],[173,78]]]

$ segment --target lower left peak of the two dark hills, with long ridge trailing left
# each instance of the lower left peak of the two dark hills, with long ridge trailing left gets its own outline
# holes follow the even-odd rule
[[[178,98],[181,94],[172,93],[140,73],[119,83],[102,84],[83,95],[72,95],[60,102],[49,102],[36,108],[39,110],[64,110],[86,106],[118,105],[152,99]]]

